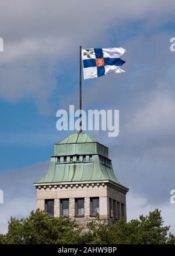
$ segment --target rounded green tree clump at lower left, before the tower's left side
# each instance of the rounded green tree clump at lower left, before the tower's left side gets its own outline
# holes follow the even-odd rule
[[[8,244],[76,244],[81,229],[71,219],[49,219],[48,214],[36,210],[26,219],[11,217],[7,233]]]

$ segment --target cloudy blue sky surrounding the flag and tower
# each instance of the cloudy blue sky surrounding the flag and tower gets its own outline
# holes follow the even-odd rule
[[[54,142],[69,134],[56,130],[55,115],[71,104],[78,108],[79,45],[124,47],[124,74],[83,82],[83,108],[119,109],[120,134],[89,133],[110,148],[114,172],[130,189],[128,218],[161,207],[175,233],[169,203],[175,179],[174,1],[88,1],[90,13],[82,1],[1,5],[0,189],[6,203],[0,215],[27,214],[14,209],[14,200],[28,212],[35,207],[33,182],[47,171]]]

